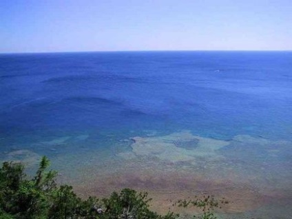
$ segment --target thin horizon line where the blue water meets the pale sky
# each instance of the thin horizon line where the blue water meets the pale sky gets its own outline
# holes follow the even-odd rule
[[[52,51],[52,52],[0,52],[0,54],[55,54],[94,52],[292,52],[292,50],[92,50],[92,51]]]

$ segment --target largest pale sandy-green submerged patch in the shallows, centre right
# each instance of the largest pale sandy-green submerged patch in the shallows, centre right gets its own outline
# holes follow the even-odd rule
[[[134,156],[156,157],[171,162],[193,161],[197,157],[218,159],[216,150],[229,145],[228,141],[195,136],[189,131],[167,136],[147,136],[132,138],[132,152],[118,154],[123,158]]]

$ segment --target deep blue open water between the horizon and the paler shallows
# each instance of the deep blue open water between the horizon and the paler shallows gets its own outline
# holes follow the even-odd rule
[[[21,149],[54,158],[180,130],[291,142],[292,52],[0,54],[1,160]],[[267,176],[292,180],[291,147],[269,145],[280,155]],[[267,160],[256,144],[222,153]]]

